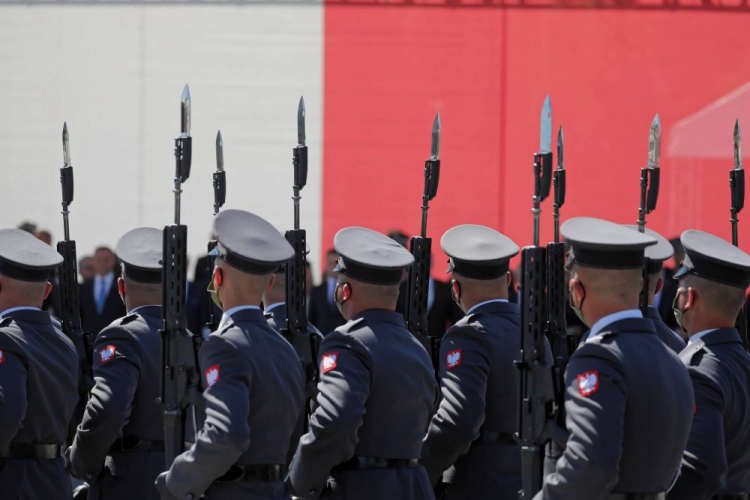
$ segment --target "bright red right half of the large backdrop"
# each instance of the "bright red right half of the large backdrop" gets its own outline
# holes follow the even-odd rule
[[[656,112],[662,189],[649,227],[729,238],[727,158],[671,160],[670,125],[750,80],[750,16],[710,11],[327,5],[323,242],[342,227],[416,234],[435,112],[443,120],[436,240],[461,223],[531,243],[532,155],[549,93],[579,215],[634,223]],[[750,130],[750,123],[748,124]],[[750,147],[745,148],[750,150]],[[678,170],[679,169],[679,170]],[[543,240],[551,238],[545,204]],[[748,209],[750,211],[750,209]],[[750,245],[750,225],[740,229]],[[433,272],[442,274],[439,251]]]

